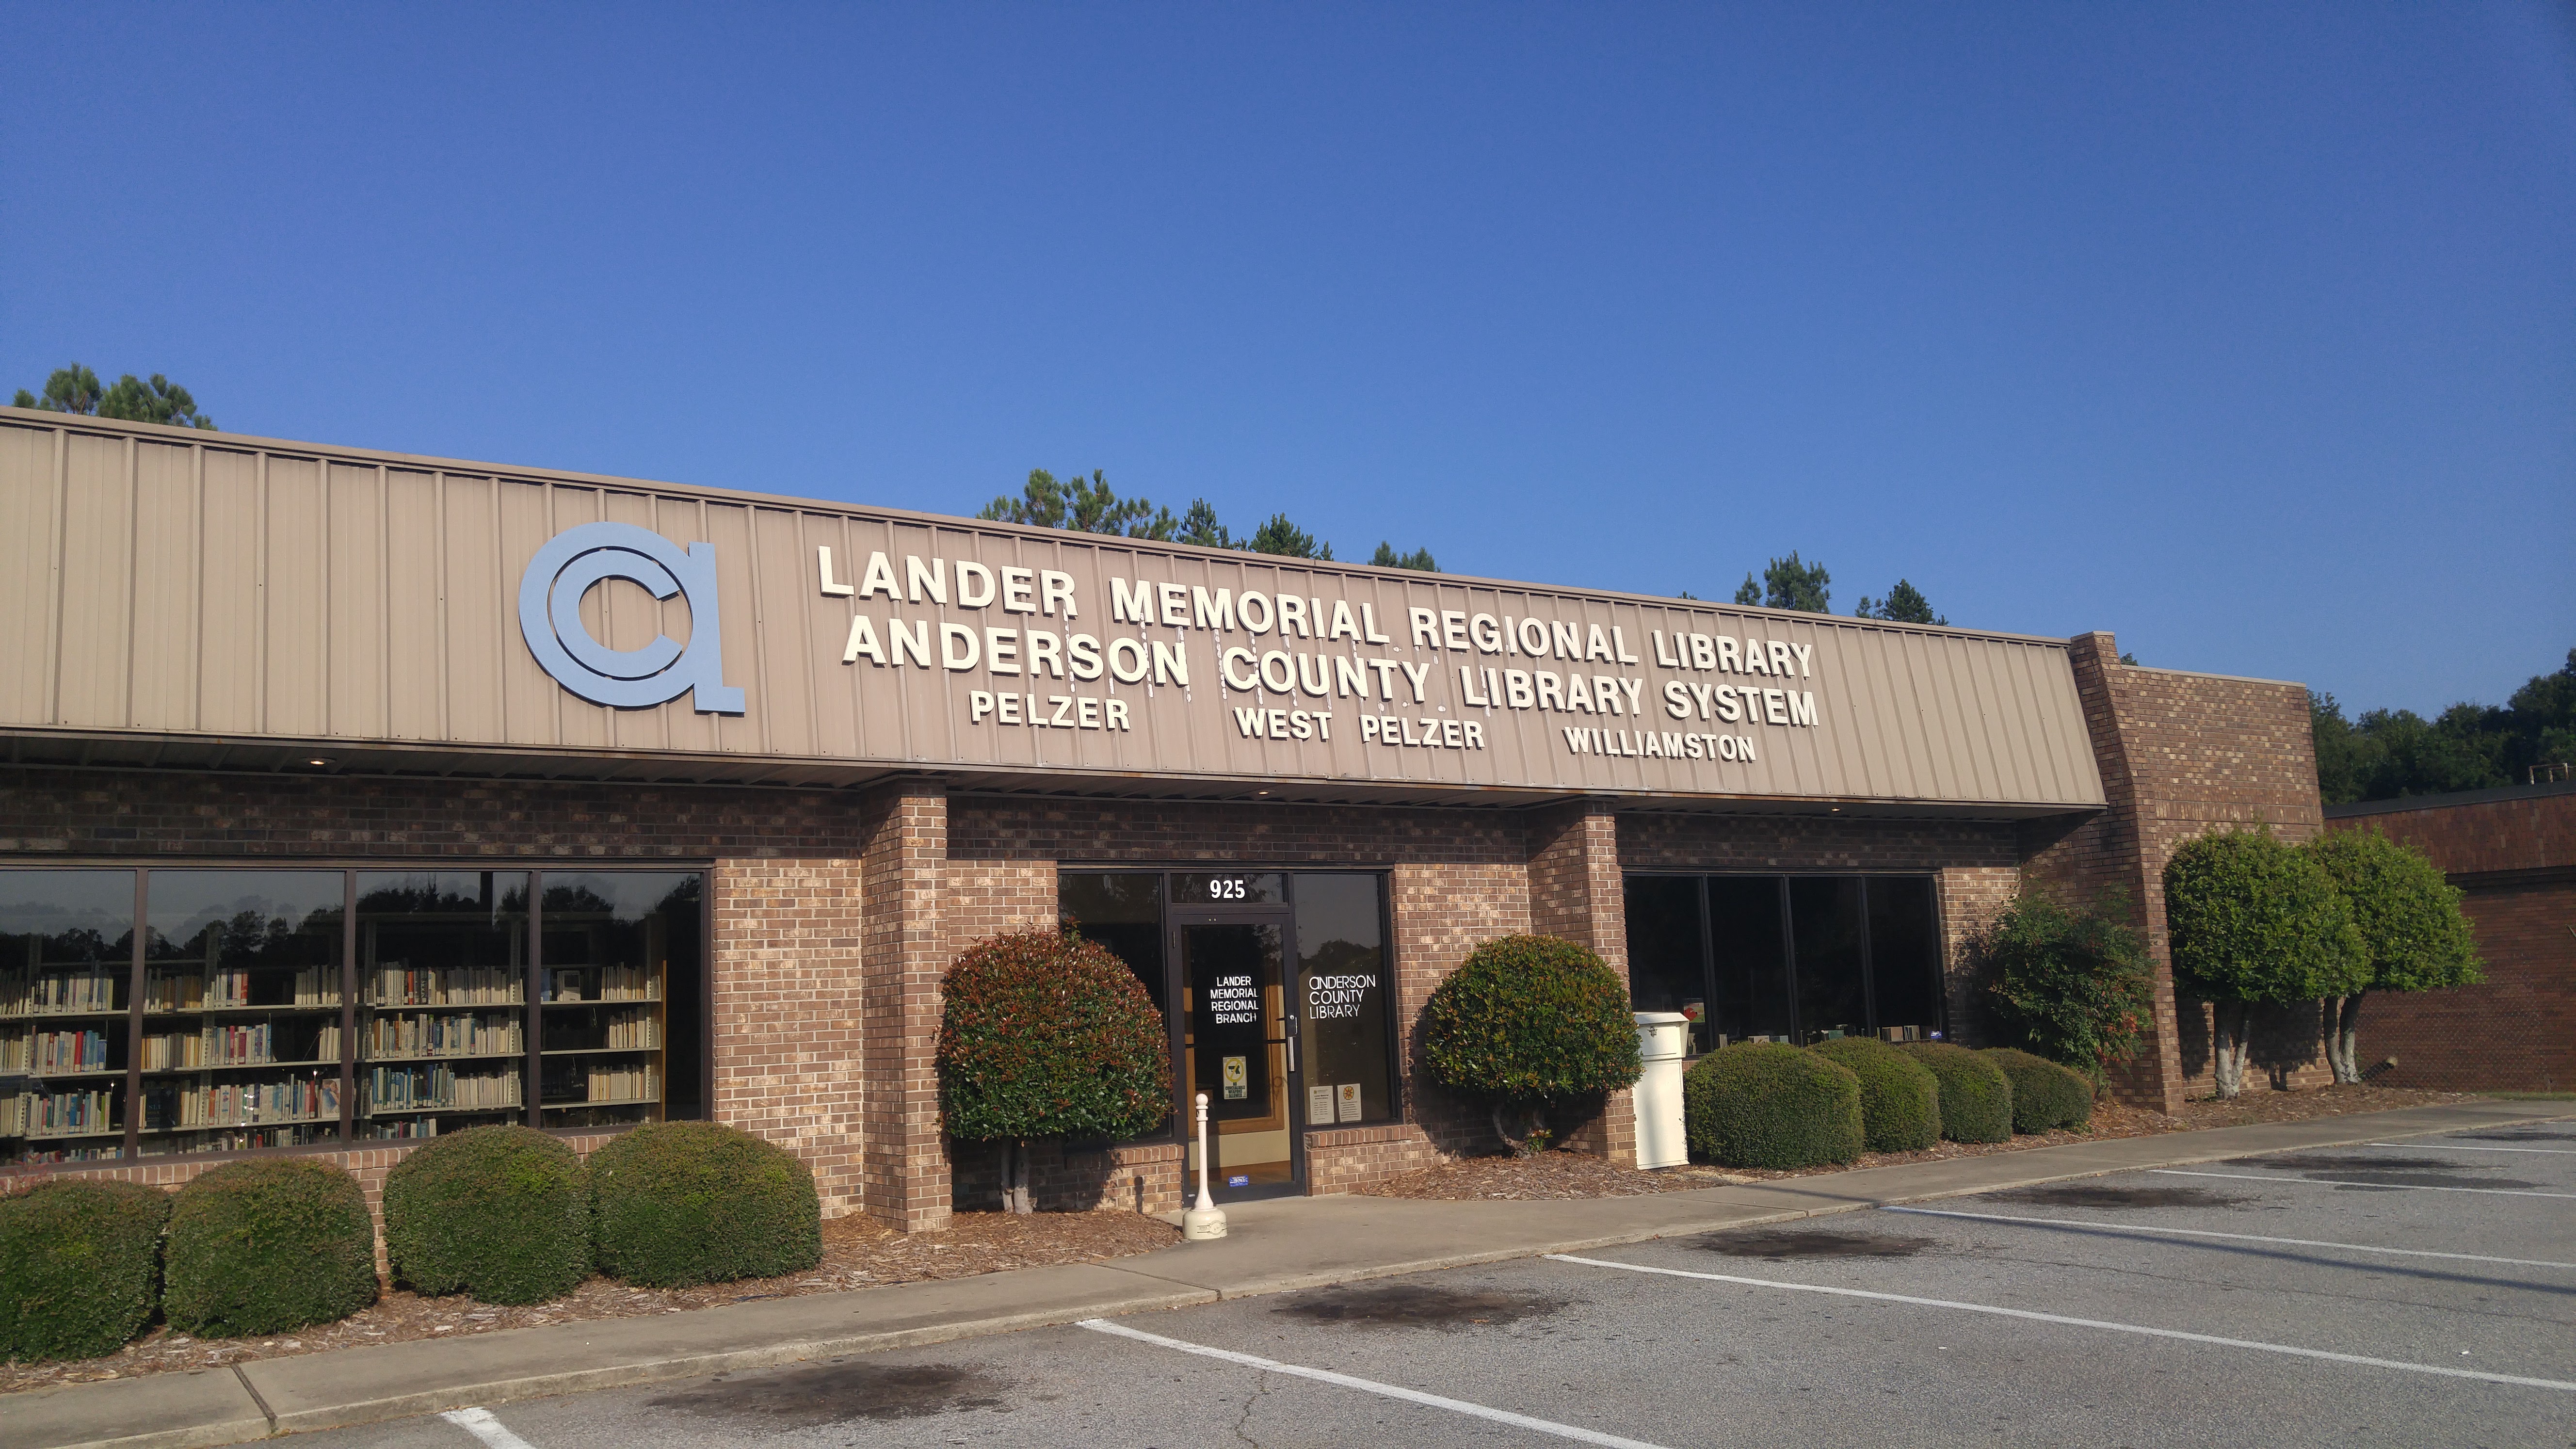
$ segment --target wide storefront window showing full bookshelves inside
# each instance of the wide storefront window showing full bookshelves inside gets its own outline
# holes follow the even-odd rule
[[[0,869],[0,1165],[703,1116],[703,892]]]

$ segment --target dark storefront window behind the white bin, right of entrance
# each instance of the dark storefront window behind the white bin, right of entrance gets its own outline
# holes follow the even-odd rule
[[[1929,877],[1628,877],[1636,1011],[1728,1042],[1891,1042],[1942,1034],[1942,951]]]

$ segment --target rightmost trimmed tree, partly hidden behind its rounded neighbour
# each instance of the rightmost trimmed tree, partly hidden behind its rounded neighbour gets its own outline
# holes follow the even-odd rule
[[[2460,913],[2460,890],[2424,851],[2378,830],[2336,830],[2306,846],[2326,866],[2370,954],[2367,980],[2329,1000],[2326,1062],[2334,1080],[2362,1080],[2362,995],[2372,990],[2445,990],[2476,985],[2478,941]]]

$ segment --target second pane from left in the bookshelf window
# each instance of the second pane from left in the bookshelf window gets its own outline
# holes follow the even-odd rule
[[[340,1137],[343,871],[152,871],[144,1155]]]

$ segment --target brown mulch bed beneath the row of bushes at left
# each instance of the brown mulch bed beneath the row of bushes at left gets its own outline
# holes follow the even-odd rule
[[[688,1312],[768,1297],[868,1289],[922,1279],[969,1279],[1005,1269],[1043,1269],[1054,1263],[1097,1263],[1151,1253],[1180,1240],[1180,1230],[1133,1212],[958,1212],[943,1232],[896,1232],[866,1217],[835,1217],[822,1225],[822,1266],[791,1279],[744,1279],[696,1289],[636,1289],[613,1279],[590,1279],[572,1297],[533,1307],[497,1307],[464,1294],[420,1297],[392,1289],[374,1307],[296,1333],[270,1338],[191,1338],[155,1323],[149,1333],[118,1354],[70,1364],[5,1364],[0,1392],[142,1374],[198,1372],[250,1359],[322,1354],[366,1343],[410,1338],[453,1338],[500,1328],[541,1328],[595,1318],[641,1318],[649,1312]]]

